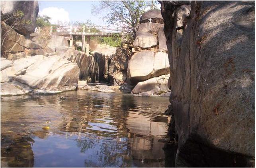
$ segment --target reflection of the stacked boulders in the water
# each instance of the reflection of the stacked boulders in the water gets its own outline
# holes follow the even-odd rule
[[[158,140],[167,133],[168,117],[143,114],[130,112],[126,118],[127,128],[131,133],[129,144],[133,163],[140,167],[163,167],[164,143]]]

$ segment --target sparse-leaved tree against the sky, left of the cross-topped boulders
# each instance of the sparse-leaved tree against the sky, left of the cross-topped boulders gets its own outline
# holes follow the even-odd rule
[[[141,14],[149,9],[157,9],[156,1],[101,1],[94,5],[92,14],[104,12],[104,19],[111,25],[124,27],[124,31],[130,33],[133,39],[139,28]]]

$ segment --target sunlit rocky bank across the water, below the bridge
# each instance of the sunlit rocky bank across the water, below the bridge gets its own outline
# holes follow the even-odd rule
[[[38,4],[30,3],[33,8],[27,12],[38,12]],[[13,6],[10,10],[24,8],[17,2],[8,4]],[[29,15],[37,15],[32,13]],[[150,18],[161,23],[145,23]],[[33,35],[30,40],[27,36],[31,31],[19,34],[2,22],[6,37],[1,55],[1,96],[53,94],[76,88],[113,91],[109,86],[87,83],[113,85],[114,90],[137,96],[166,96],[170,92],[169,62],[162,22],[160,10],[150,10],[141,16],[132,45],[123,43],[119,48],[98,45],[90,55],[69,47],[63,36],[50,35],[47,45],[42,47],[41,36]],[[79,81],[84,82],[78,86]]]

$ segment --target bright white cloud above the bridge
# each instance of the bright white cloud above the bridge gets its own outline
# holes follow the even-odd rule
[[[38,13],[40,16],[46,15],[51,18],[50,22],[52,24],[57,23],[57,21],[68,22],[69,14],[63,8],[56,8],[56,7],[49,7],[43,8],[43,10],[39,11]]]

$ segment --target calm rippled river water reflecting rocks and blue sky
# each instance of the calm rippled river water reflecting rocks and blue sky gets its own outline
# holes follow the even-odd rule
[[[3,97],[1,167],[170,166],[168,104],[168,97],[85,90]]]

